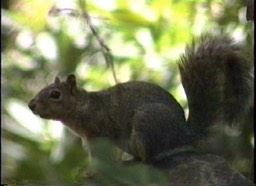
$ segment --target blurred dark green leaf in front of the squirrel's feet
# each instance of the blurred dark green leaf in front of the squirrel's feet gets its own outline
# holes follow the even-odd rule
[[[87,184],[166,184],[167,177],[157,169],[143,164],[125,165],[116,160],[115,147],[106,140],[96,140],[93,142],[92,151],[96,158],[93,158],[86,176],[80,177],[79,183]],[[91,177],[88,179],[88,176]]]

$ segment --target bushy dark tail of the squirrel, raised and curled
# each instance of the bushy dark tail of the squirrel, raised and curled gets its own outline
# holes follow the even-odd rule
[[[179,64],[188,105],[188,124],[200,132],[237,122],[253,90],[252,64],[242,47],[225,35],[202,35],[186,48]]]

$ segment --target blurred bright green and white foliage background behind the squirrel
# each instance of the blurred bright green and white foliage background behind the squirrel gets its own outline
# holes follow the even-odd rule
[[[102,46],[86,17],[80,16],[83,11],[111,49],[120,82],[158,84],[173,94],[186,112],[177,62],[193,36],[204,31],[227,32],[246,46],[245,55],[252,62],[254,59],[254,28],[246,20],[244,0],[1,1],[2,183],[74,183],[89,169],[88,152],[82,149],[81,140],[61,123],[42,120],[27,107],[56,75],[64,79],[74,73],[78,84],[89,91],[115,84]],[[205,153],[223,156],[250,179],[253,109],[239,127],[216,128],[200,146]],[[138,167],[136,174],[122,172],[113,164],[97,164],[109,174],[104,183],[111,179],[123,183],[161,180],[157,173],[152,176]]]

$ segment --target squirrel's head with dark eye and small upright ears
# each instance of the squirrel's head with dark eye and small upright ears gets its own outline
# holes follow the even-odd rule
[[[73,74],[64,82],[56,77],[53,84],[42,89],[29,102],[28,107],[41,118],[62,120],[72,111],[77,94],[76,77]]]

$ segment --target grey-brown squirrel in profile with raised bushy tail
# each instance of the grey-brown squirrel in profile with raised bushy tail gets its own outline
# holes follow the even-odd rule
[[[55,78],[28,104],[44,119],[61,121],[89,143],[107,138],[141,162],[202,139],[215,124],[239,121],[252,95],[252,66],[241,45],[227,35],[204,34],[179,62],[189,116],[160,86],[128,81],[89,92],[76,77]],[[93,154],[92,154],[93,155]]]

